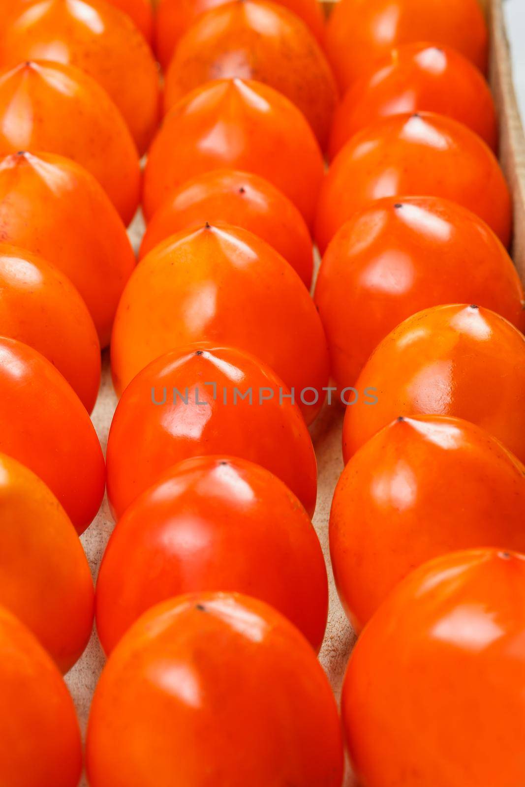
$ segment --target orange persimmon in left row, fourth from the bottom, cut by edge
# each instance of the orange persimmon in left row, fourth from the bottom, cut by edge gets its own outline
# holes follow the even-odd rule
[[[91,412],[100,344],[87,306],[67,276],[36,254],[0,244],[0,336],[42,353]]]

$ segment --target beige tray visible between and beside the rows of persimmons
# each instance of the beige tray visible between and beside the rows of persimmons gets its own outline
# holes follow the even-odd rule
[[[333,2],[328,0],[326,5],[329,8],[333,5]],[[508,179],[514,198],[515,232],[513,258],[522,275],[522,279],[525,280],[525,139],[523,138],[523,127],[519,120],[516,95],[512,85],[512,66],[505,34],[502,0],[486,0],[486,2],[483,2],[483,6],[486,7],[487,17],[490,22],[490,83],[496,98],[501,123],[501,164],[505,170],[505,176]],[[135,247],[139,245],[142,231],[142,220],[135,220],[130,228],[130,235]],[[116,397],[109,377],[108,359],[105,357],[102,388],[93,413],[94,425],[104,449],[115,406]],[[325,408],[312,427],[312,438],[316,447],[319,465],[319,496],[313,522],[319,534],[328,567],[330,566],[327,532],[328,515],[335,484],[342,471],[341,426],[342,411],[338,407],[332,407]],[[98,573],[98,566],[111,530],[113,530],[113,520],[109,514],[107,500],[105,499],[94,523],[83,534],[81,539],[86,549],[94,578],[96,578]],[[354,637],[339,604],[330,567],[328,574],[330,577],[330,614],[327,634],[320,653],[320,661],[327,671],[335,695],[339,697],[342,678],[353,646]],[[66,676],[66,681],[76,703],[83,731],[87,724],[91,696],[103,664],[104,656],[98,645],[96,634],[93,634],[86,652]],[[353,778],[348,773],[345,787],[353,787],[353,785]],[[83,778],[80,787],[87,787],[85,778]]]

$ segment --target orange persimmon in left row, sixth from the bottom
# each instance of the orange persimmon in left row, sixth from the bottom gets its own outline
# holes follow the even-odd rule
[[[139,153],[102,87],[79,68],[25,62],[0,74],[0,152],[45,150],[82,164],[129,224],[140,200]]]

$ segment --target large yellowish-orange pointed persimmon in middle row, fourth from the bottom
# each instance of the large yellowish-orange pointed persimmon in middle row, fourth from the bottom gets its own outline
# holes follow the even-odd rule
[[[144,257],[116,311],[116,391],[162,353],[192,342],[253,353],[294,390],[308,423],[320,411],[328,353],[319,315],[297,273],[251,232],[206,224]]]

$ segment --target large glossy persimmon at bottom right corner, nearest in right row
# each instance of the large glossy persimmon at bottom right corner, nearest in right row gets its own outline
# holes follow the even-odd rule
[[[523,555],[454,552],[401,582],[357,641],[343,686],[360,784],[522,784],[524,630]]]

